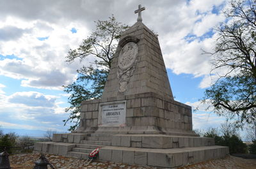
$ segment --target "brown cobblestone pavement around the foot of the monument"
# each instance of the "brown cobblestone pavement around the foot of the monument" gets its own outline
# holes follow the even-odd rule
[[[33,152],[31,154],[15,154],[9,157],[12,169],[32,169],[35,166],[34,161],[37,161],[40,154]],[[86,159],[76,159],[76,158],[66,158],[63,156],[55,156],[52,154],[46,154],[45,157],[49,162],[54,165],[56,169],[86,169],[86,168],[106,168],[106,169],[116,169],[116,168],[129,168],[129,169],[142,169],[150,168],[145,166],[135,166],[127,165],[123,163],[113,163],[113,162],[102,162],[93,161],[90,165],[86,166]],[[49,167],[50,168],[50,167]],[[212,159],[210,161],[205,161],[202,163],[197,163],[195,165],[184,166],[179,169],[256,169],[255,159],[243,159],[236,158],[234,156],[227,156],[223,159]],[[154,168],[157,169],[157,168]]]

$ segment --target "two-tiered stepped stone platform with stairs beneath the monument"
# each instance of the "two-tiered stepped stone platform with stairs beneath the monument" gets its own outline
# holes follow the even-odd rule
[[[186,166],[223,158],[228,147],[214,145],[214,138],[173,135],[109,133],[54,134],[54,142],[35,143],[35,151],[86,159],[101,147],[99,160],[163,168]]]

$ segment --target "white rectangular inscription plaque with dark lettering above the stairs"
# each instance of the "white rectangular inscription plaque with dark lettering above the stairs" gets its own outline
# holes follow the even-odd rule
[[[124,127],[126,115],[125,101],[101,103],[99,105],[100,127]]]

